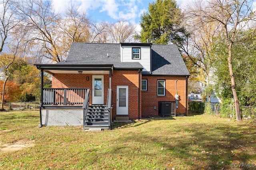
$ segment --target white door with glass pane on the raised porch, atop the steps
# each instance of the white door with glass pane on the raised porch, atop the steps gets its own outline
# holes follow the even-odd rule
[[[104,76],[92,75],[92,104],[104,104]]]

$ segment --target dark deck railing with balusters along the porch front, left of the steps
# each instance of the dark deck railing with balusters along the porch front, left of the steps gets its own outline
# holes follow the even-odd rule
[[[82,105],[86,96],[85,88],[44,88],[43,105]]]

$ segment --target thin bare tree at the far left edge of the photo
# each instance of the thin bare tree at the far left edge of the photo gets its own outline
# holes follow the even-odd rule
[[[3,0],[0,5],[2,9],[2,13],[0,14],[0,72],[2,80],[4,81],[0,107],[0,110],[2,110],[4,106],[6,82],[11,76],[9,67],[23,51],[23,49],[20,48],[20,44],[23,42],[24,32],[22,32],[20,24],[23,18],[16,16],[14,12],[16,9],[12,6],[12,1]]]

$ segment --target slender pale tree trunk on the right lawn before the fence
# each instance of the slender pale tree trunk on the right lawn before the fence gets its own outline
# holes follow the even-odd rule
[[[235,85],[235,78],[234,78],[234,73],[233,73],[233,65],[231,62],[232,58],[232,43],[228,45],[228,69],[229,69],[229,74],[231,78],[231,87],[232,87],[232,92],[233,92],[233,97],[234,97],[234,104],[235,104],[235,109],[236,109],[236,121],[241,121],[241,115],[240,115],[240,108],[239,108],[239,101],[237,98],[236,94],[236,85]]]

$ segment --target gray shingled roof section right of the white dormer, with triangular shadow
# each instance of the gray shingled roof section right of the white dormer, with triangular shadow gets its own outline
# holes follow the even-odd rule
[[[152,75],[190,75],[177,45],[152,44]]]

